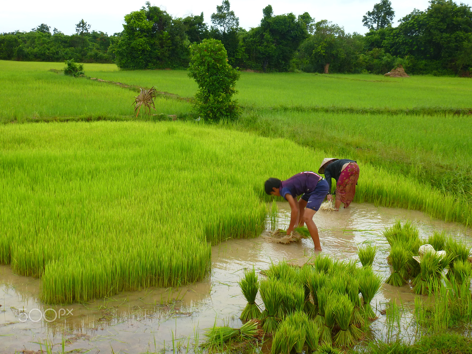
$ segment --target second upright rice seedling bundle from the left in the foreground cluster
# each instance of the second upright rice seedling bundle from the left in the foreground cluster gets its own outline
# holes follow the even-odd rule
[[[261,281],[259,290],[265,310],[259,318],[263,321],[262,329],[266,333],[273,333],[279,323],[279,309],[282,304],[281,285],[276,279]]]

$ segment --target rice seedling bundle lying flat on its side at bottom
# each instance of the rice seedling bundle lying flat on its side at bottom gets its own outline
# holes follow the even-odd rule
[[[240,328],[224,327],[212,327],[208,329],[204,334],[208,338],[203,347],[222,347],[230,339],[235,341],[253,340],[257,337],[257,326],[258,323],[255,321],[248,321]]]

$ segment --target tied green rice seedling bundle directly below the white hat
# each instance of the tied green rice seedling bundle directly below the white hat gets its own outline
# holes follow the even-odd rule
[[[413,291],[416,294],[428,295],[436,290],[434,285],[440,284],[441,274],[446,266],[446,261],[442,258],[432,252],[423,255],[420,263],[421,271],[413,279]]]

